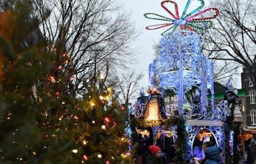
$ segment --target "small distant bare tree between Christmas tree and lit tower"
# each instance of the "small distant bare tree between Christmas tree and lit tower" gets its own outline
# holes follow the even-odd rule
[[[128,116],[129,102],[136,97],[135,93],[140,89],[140,81],[143,76],[142,73],[136,74],[135,71],[131,71],[131,73],[123,73],[113,78],[115,96],[120,104],[124,104],[126,116]]]

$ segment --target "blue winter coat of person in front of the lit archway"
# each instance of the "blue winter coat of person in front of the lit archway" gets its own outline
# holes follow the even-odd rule
[[[204,151],[206,161],[204,164],[219,164],[221,158],[219,156],[219,148],[217,146],[208,147]]]

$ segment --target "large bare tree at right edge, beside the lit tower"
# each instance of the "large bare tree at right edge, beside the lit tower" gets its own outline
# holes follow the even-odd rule
[[[228,64],[221,69],[245,67],[256,86],[256,1],[220,0],[212,4],[221,14],[213,29],[203,35],[203,50],[211,59]]]

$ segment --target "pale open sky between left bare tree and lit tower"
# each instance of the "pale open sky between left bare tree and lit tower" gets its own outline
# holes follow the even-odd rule
[[[146,30],[145,27],[158,23],[165,23],[163,21],[146,19],[143,15],[144,13],[153,12],[162,16],[170,17],[170,15],[161,7],[162,0],[117,0],[124,9],[131,13],[131,21],[135,25],[136,31],[139,33],[138,39],[134,41],[133,48],[137,50],[137,62],[133,64],[133,69],[136,72],[142,71],[144,73],[144,78],[142,84],[144,88],[148,87],[148,65],[154,59],[153,45],[159,43],[161,38],[161,33],[164,28],[158,30]],[[179,15],[182,14],[187,0],[173,0],[178,4]],[[210,5],[209,0],[204,0],[204,8]],[[192,11],[200,5],[197,0],[191,0],[188,12]],[[168,6],[167,6],[168,8]],[[171,11],[174,12],[174,7],[169,7]]]

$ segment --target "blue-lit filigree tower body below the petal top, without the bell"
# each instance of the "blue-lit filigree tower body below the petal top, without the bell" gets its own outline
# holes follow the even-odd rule
[[[187,120],[188,158],[195,152],[193,142],[202,130],[224,151],[227,104],[221,101],[214,106],[213,63],[201,54],[199,35],[192,31],[165,34],[160,41],[160,55],[149,66],[151,86],[155,85],[155,77],[159,77],[160,88],[177,96],[171,105],[174,108],[164,108],[165,114],[172,116],[177,111]],[[211,104],[207,103],[208,91]]]

